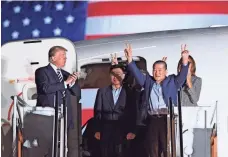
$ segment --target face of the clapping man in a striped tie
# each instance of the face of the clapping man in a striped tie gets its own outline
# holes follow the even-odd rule
[[[58,68],[63,68],[66,64],[66,52],[64,50],[58,50],[52,57],[53,63]]]

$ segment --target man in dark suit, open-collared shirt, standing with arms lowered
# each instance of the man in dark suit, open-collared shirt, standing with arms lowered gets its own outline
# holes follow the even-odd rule
[[[134,139],[129,131],[126,117],[126,88],[122,81],[125,77],[121,65],[110,68],[111,85],[97,92],[94,118],[96,120],[95,138],[100,140],[102,157],[123,156],[124,140]]]

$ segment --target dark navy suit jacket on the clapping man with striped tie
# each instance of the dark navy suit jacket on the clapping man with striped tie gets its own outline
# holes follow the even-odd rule
[[[70,73],[61,70],[63,75],[63,80],[66,80]],[[72,106],[70,95],[80,96],[80,87],[75,83],[71,88],[68,86],[65,89],[64,82],[60,82],[55,70],[51,65],[38,68],[35,72],[35,82],[37,87],[37,106],[49,106],[54,107],[56,92],[59,93],[59,103],[63,103],[62,92],[66,91],[66,102],[67,102],[67,118],[68,127],[72,127]]]

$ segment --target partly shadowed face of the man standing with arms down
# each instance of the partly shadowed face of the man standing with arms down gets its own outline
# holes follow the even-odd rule
[[[120,85],[124,79],[124,73],[121,68],[115,68],[110,73],[112,85]]]

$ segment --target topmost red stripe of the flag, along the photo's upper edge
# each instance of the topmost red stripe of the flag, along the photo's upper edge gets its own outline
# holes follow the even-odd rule
[[[119,1],[97,2],[88,6],[88,16],[139,14],[228,14],[225,1]]]

